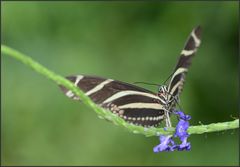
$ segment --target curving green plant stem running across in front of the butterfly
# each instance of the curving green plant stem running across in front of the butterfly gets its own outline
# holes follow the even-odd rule
[[[142,126],[136,126],[133,124],[129,124],[125,122],[120,117],[116,116],[112,112],[108,110],[104,110],[100,107],[98,107],[88,96],[84,94],[83,91],[81,91],[78,87],[76,87],[72,82],[68,81],[64,77],[50,71],[46,67],[42,66],[41,64],[37,63],[33,59],[31,59],[28,56],[25,56],[24,54],[18,52],[17,50],[14,50],[10,47],[7,47],[5,45],[1,45],[1,52],[5,55],[11,56],[20,62],[26,64],[27,66],[31,67],[36,72],[42,74],[43,76],[49,78],[50,80],[54,81],[56,84],[61,84],[71,90],[73,93],[78,95],[82,102],[85,103],[87,106],[92,108],[99,117],[105,118],[107,120],[112,121],[115,125],[118,125],[120,127],[125,127],[129,131],[133,133],[139,133],[143,134],[145,136],[159,136],[160,134],[173,134],[175,131],[175,128],[168,128],[167,130],[164,130],[163,128],[144,128]],[[189,134],[202,134],[202,133],[208,133],[208,132],[217,132],[222,130],[229,130],[229,129],[236,129],[239,128],[239,119],[229,121],[229,122],[221,122],[221,123],[212,123],[209,125],[198,125],[198,126],[190,126],[188,129]]]

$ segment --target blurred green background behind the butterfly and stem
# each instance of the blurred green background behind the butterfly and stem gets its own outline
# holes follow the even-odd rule
[[[203,28],[181,106],[198,125],[238,117],[238,2],[3,2],[2,43],[63,75],[163,83]],[[1,56],[2,165],[237,165],[239,133],[192,135],[190,152],[154,154],[52,81]],[[152,91],[154,86],[140,85]]]

